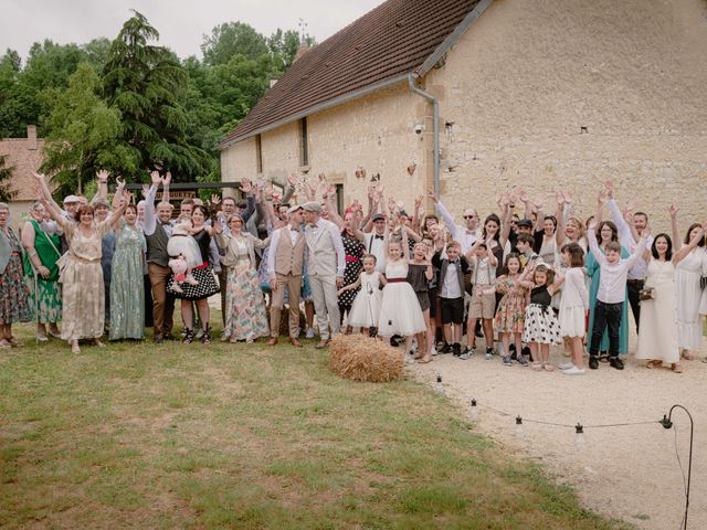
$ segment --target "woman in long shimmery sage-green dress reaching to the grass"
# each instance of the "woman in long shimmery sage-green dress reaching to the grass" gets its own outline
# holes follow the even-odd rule
[[[137,225],[137,206],[128,204],[116,231],[110,277],[110,340],[145,338],[145,234]]]

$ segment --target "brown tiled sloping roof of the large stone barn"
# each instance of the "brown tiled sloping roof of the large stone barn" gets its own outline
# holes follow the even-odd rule
[[[431,68],[428,60],[439,60],[458,38],[457,26],[465,29],[489,3],[388,0],[298,59],[219,147],[306,116],[327,102],[404,81],[423,65]]]

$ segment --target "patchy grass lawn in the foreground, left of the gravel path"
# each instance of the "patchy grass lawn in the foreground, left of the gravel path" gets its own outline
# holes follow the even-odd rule
[[[215,320],[215,318],[214,318]],[[411,381],[281,344],[0,351],[2,528],[616,529]]]

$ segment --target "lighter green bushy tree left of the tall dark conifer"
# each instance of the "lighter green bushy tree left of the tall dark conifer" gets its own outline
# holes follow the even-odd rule
[[[84,183],[99,169],[137,172],[138,161],[117,144],[120,113],[98,96],[101,80],[93,66],[81,63],[66,91],[56,91],[49,118],[42,172],[53,174],[61,193],[84,192]]]

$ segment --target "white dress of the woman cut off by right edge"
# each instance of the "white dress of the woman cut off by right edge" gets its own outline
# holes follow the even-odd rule
[[[675,296],[677,298],[677,346],[699,350],[703,344],[703,319],[699,305],[703,296],[699,278],[707,259],[707,251],[698,246],[675,267]]]

